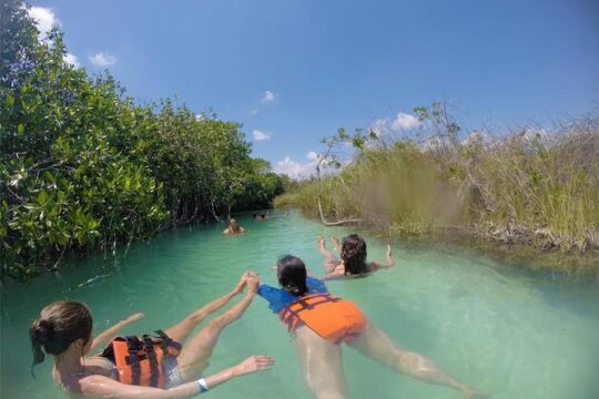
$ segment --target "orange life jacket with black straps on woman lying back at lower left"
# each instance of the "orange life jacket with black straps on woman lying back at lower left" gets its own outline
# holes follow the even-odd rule
[[[119,381],[145,387],[164,387],[162,359],[165,355],[179,356],[181,344],[170,338],[162,330],[159,336],[116,337],[101,356],[114,361],[119,371]]]

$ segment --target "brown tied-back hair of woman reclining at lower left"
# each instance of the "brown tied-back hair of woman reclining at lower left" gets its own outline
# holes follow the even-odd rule
[[[48,355],[60,355],[77,339],[84,345],[91,339],[92,317],[88,307],[75,301],[54,301],[42,309],[40,317],[31,323],[29,337],[33,350],[33,366]],[[42,351],[43,347],[43,351]]]

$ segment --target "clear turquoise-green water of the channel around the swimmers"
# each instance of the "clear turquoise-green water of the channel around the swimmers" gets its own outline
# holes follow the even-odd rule
[[[316,274],[316,238],[351,231],[325,228],[298,214],[261,223],[240,218],[248,233],[223,237],[222,225],[166,233],[138,244],[126,257],[72,260],[58,275],[10,284],[1,297],[1,398],[63,398],[51,381],[51,359],[29,370],[28,327],[57,299],[90,306],[95,332],[136,313],[145,318],[124,334],[167,328],[225,294],[246,269],[275,284],[278,255],[302,257]],[[384,259],[385,242],[365,235],[370,259]],[[331,246],[329,239],[327,243]],[[464,249],[438,250],[393,243],[396,266],[368,278],[329,283],[354,300],[402,346],[433,358],[493,398],[599,397],[599,291],[509,269]],[[309,398],[292,338],[256,297],[223,335],[207,375],[247,356],[276,358],[268,372],[233,380],[213,398]],[[459,398],[449,389],[397,376],[344,348],[351,398]]]

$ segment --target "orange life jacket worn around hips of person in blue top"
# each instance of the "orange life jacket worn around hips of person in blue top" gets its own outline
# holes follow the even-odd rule
[[[352,301],[328,293],[312,294],[284,307],[278,314],[292,331],[302,323],[334,344],[348,341],[366,327],[366,317]]]

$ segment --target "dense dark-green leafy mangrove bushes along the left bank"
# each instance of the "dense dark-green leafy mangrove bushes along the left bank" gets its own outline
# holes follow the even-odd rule
[[[0,8],[2,277],[266,207],[282,192],[240,124],[169,100],[140,106],[108,73],[65,63],[60,32],[40,41],[20,1]]]

